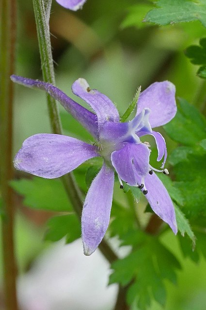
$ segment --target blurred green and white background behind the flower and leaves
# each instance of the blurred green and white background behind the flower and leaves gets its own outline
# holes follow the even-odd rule
[[[71,84],[86,78],[92,88],[107,94],[124,113],[138,86],[144,90],[154,81],[170,80],[176,94],[197,105],[203,81],[196,77],[194,65],[184,55],[184,49],[206,36],[200,22],[164,27],[138,23],[126,27],[125,16],[135,0],[88,0],[76,13],[63,9],[55,1],[50,16],[51,43],[55,63],[56,85],[76,100]],[[143,13],[140,11],[140,21]],[[18,38],[16,74],[42,78],[32,1],[18,1]],[[14,155],[23,140],[36,133],[49,133],[45,93],[16,85],[14,113]],[[83,104],[79,98],[77,101]],[[65,134],[90,141],[91,137],[72,117],[61,109]],[[163,132],[163,129],[159,129]],[[176,144],[164,133],[168,153]],[[154,141],[150,141],[155,147]],[[152,152],[153,157],[156,151]],[[75,175],[86,191],[85,171]],[[16,179],[31,178],[16,171]],[[115,201],[126,203],[124,193],[114,190]],[[44,193],[42,194],[44,199]],[[22,196],[16,194],[16,256],[19,269],[18,298],[20,310],[112,310],[117,287],[107,288],[109,264],[97,250],[85,257],[81,241],[64,245],[64,240],[50,243],[44,240],[46,221],[54,213],[28,208]],[[144,200],[139,208],[143,223]],[[162,242],[178,257],[182,270],[178,283],[166,282],[166,310],[205,310],[206,262],[183,258],[172,232],[162,236]],[[118,249],[124,257],[129,248]],[[2,269],[0,263],[0,270]],[[0,272],[0,309],[3,308],[2,270]],[[151,310],[162,309],[153,302]]]

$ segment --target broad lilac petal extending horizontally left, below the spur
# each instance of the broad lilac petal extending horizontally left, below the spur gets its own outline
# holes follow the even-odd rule
[[[66,174],[87,159],[98,156],[93,145],[53,134],[37,134],[26,139],[16,154],[16,169],[42,178],[53,179]]]

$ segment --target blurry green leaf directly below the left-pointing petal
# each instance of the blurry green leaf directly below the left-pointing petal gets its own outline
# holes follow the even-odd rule
[[[72,207],[59,179],[33,177],[11,181],[16,192],[24,196],[24,205],[33,209],[71,211]]]

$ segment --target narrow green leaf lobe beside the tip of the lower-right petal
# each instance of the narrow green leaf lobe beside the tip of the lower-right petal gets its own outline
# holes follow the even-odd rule
[[[192,241],[192,248],[194,249],[196,237],[194,233],[192,232],[189,220],[185,217],[184,213],[180,210],[180,208],[175,203],[174,203],[174,210],[175,210],[175,215],[176,215],[178,231],[181,233],[183,237],[185,233],[188,234],[188,236],[190,237]]]

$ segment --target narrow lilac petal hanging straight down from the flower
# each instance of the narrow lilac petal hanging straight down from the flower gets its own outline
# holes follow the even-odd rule
[[[91,255],[108,228],[114,186],[114,171],[103,165],[93,180],[82,210],[81,232],[84,254]]]

